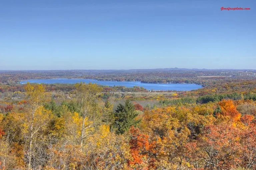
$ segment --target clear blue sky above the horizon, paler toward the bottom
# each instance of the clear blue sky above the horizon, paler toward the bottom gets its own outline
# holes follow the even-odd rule
[[[255,7],[255,0],[1,0],[0,70],[256,69]]]

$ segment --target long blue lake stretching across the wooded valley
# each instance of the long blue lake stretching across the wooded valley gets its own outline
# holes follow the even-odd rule
[[[98,85],[108,85],[108,86],[125,86],[125,87],[133,87],[133,86],[140,86],[144,87],[148,90],[178,90],[178,91],[187,91],[187,90],[195,90],[201,88],[201,85],[196,84],[156,84],[156,83],[141,83],[141,82],[115,82],[115,81],[98,81],[92,79],[42,79],[42,80],[28,80],[28,81],[21,81],[21,84],[25,83],[43,83],[43,84],[54,84],[54,83],[68,83],[68,84],[75,84],[80,82],[85,83],[97,83]]]

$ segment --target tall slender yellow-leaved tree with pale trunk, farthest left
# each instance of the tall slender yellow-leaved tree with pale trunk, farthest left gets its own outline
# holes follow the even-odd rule
[[[41,84],[25,85],[27,106],[24,112],[24,125],[27,129],[25,138],[28,139],[26,145],[27,151],[27,168],[32,169],[33,142],[38,131],[47,124],[50,120],[50,113],[46,111],[42,104],[47,99],[45,87]]]

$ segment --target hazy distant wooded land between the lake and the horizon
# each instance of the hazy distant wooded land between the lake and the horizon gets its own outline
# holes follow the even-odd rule
[[[0,82],[17,84],[28,79],[95,79],[100,81],[140,81],[142,83],[195,83],[213,80],[255,79],[255,70],[229,69],[138,69],[138,70],[28,70],[0,71]]]

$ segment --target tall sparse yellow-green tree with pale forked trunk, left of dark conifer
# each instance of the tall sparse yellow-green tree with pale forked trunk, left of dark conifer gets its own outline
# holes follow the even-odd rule
[[[84,138],[86,137],[86,129],[91,128],[94,123],[96,123],[95,119],[99,116],[96,100],[97,94],[102,91],[102,87],[92,83],[77,83],[75,87],[77,89],[77,99],[79,102],[78,110],[83,118],[80,135],[80,146],[82,148]],[[94,121],[86,125],[85,122],[87,118]]]

